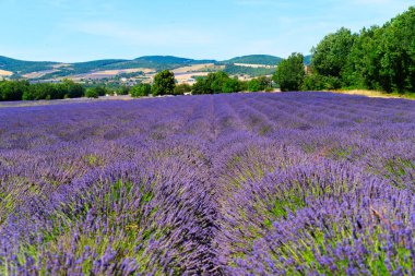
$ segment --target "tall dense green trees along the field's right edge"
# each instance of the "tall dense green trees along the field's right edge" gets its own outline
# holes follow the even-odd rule
[[[414,92],[415,8],[383,26],[363,28],[357,34],[340,28],[327,35],[311,53],[307,74],[299,53],[293,53],[278,65],[273,79],[282,91]]]

